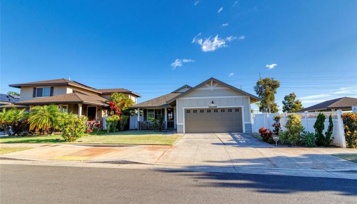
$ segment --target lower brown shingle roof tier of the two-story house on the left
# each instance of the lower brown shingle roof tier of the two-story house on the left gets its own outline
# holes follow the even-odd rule
[[[16,105],[42,105],[42,104],[90,104],[98,106],[109,106],[107,99],[95,94],[84,92],[73,92],[49,97],[40,97],[20,101]]]

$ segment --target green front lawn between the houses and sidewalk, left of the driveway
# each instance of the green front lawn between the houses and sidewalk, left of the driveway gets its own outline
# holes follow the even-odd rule
[[[103,135],[86,135],[75,142],[82,144],[158,144],[172,145],[181,135],[164,135],[165,132],[123,131]],[[56,139],[60,139],[57,141]],[[0,138],[0,143],[64,143],[61,135]]]

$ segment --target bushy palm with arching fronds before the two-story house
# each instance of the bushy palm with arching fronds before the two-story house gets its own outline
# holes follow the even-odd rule
[[[31,108],[29,123],[30,130],[46,131],[47,134],[52,134],[56,128],[56,118],[60,113],[55,105],[49,106],[35,106]]]

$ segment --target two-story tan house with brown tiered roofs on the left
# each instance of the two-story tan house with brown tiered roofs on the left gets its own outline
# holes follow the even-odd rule
[[[115,92],[128,95],[135,103],[141,95],[123,88],[96,89],[85,84],[56,79],[39,82],[12,84],[10,87],[20,89],[19,101],[16,106],[58,105],[61,112],[72,112],[85,115],[89,120],[101,121],[109,113],[107,103],[110,95]]]

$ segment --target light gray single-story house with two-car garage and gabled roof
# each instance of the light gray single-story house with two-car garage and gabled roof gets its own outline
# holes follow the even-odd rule
[[[161,116],[163,129],[176,129],[177,133],[250,133],[250,104],[258,101],[257,96],[210,78],[130,108],[142,111],[137,117],[138,129],[151,129],[152,119]]]

